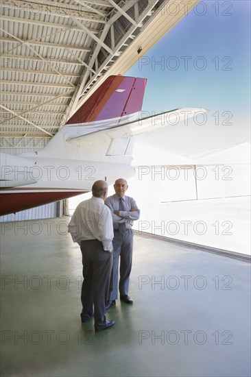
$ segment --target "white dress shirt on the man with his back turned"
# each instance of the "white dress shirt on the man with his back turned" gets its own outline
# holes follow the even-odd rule
[[[112,215],[101,197],[91,197],[77,206],[68,232],[71,233],[73,242],[79,245],[81,241],[98,239],[103,243],[104,250],[112,252]]]

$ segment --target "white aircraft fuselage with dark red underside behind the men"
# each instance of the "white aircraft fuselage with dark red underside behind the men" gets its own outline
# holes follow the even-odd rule
[[[1,154],[0,215],[40,206],[91,191],[95,180],[112,184],[121,175],[134,175],[130,165],[68,160],[23,158]]]

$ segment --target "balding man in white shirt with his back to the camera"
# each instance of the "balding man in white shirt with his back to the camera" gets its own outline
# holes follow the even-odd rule
[[[95,331],[105,330],[115,324],[106,320],[110,273],[112,270],[112,216],[104,204],[108,184],[98,180],[93,184],[93,197],[81,202],[69,223],[73,242],[80,245],[82,252],[82,322],[94,315]],[[93,312],[94,304],[94,312]]]

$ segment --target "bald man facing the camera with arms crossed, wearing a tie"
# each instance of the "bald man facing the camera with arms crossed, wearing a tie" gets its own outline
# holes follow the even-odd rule
[[[134,220],[139,219],[140,210],[132,197],[126,196],[128,182],[119,178],[114,184],[115,195],[105,200],[106,206],[112,214],[114,239],[113,265],[110,279],[110,293],[106,303],[106,310],[116,304],[118,297],[118,280],[120,300],[126,304],[132,304],[132,298],[128,295],[129,278],[132,269],[132,243]],[[119,267],[120,258],[120,267]],[[119,279],[120,273],[120,279]]]

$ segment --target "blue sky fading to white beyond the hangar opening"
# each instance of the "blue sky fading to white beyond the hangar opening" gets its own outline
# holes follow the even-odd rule
[[[250,141],[250,1],[201,1],[127,75],[148,80],[143,111],[211,110],[139,142],[186,154]]]

